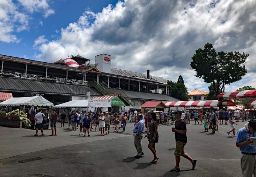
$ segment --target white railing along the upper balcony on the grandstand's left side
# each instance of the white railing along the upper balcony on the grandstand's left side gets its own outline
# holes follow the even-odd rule
[[[56,82],[56,83],[70,83],[70,84],[77,84],[77,85],[88,85],[87,81],[82,80],[75,80],[75,79],[68,79],[62,77],[49,77],[49,76],[41,76],[37,74],[25,74],[22,72],[12,72],[12,71],[3,71],[0,72],[0,76],[4,77],[13,77],[13,78],[19,78],[19,79],[28,79],[28,80],[34,80],[34,81],[48,81],[48,82]]]

